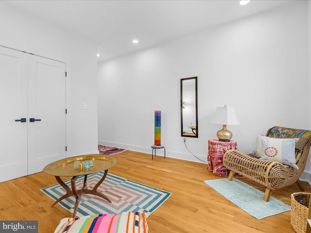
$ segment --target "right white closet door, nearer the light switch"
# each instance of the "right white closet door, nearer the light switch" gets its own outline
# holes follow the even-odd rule
[[[64,63],[28,55],[28,174],[66,157],[65,71]]]

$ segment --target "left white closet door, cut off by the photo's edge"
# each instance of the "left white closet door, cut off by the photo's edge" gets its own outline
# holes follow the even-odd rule
[[[27,59],[0,47],[0,182],[27,175]]]

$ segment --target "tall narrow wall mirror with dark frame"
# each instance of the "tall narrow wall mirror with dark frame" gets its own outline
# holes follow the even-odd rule
[[[180,80],[181,136],[198,137],[197,77]]]

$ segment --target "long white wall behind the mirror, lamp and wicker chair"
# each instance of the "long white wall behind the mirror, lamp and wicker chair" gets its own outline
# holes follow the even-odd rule
[[[248,152],[273,126],[310,129],[305,1],[233,21],[99,64],[99,143],[151,153],[154,110],[162,111],[168,157],[197,161],[180,136],[180,79],[198,76],[199,138],[188,148],[206,160],[221,125],[216,107],[234,106],[228,126]]]

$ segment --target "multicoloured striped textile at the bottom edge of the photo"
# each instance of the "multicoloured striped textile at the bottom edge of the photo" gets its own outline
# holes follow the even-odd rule
[[[148,233],[145,212],[66,217],[54,233]]]

